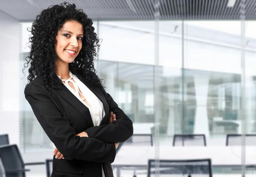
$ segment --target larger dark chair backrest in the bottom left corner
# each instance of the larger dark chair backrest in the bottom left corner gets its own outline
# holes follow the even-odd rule
[[[0,146],[0,158],[6,172],[17,169],[24,169],[24,162],[20,155],[19,148],[16,144]],[[20,171],[9,173],[8,175],[6,174],[6,176],[25,177],[26,174],[24,171]]]

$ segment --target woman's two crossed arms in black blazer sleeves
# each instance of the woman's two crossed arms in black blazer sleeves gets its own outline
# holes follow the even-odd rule
[[[24,90],[35,117],[58,151],[68,160],[86,160],[91,162],[113,163],[116,156],[116,144],[127,140],[133,134],[131,120],[118,108],[112,97],[102,90],[116,121],[108,125],[90,127],[80,135],[70,126],[50,99],[46,91],[36,83],[29,84]],[[112,117],[113,119],[113,117]],[[122,132],[122,133],[120,133]]]

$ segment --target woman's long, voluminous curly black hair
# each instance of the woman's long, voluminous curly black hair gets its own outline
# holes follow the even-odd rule
[[[41,14],[36,16],[36,20],[32,23],[32,28],[28,28],[32,34],[29,37],[31,50],[26,57],[27,62],[24,64],[23,71],[30,63],[28,83],[40,75],[43,84],[51,94],[61,88],[61,80],[54,77],[55,37],[63,24],[71,20],[82,24],[84,37],[82,48],[73,63],[69,63],[69,69],[71,72],[82,74],[92,86],[102,87],[102,81],[96,75],[93,63],[96,58],[96,48],[99,49],[100,46],[99,38],[92,26],[93,22],[82,9],[76,9],[75,4],[64,2],[41,11]]]

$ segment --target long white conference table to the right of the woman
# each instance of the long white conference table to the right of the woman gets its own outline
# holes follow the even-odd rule
[[[160,146],[161,160],[212,160],[213,167],[241,168],[241,146]],[[155,159],[155,146],[125,146],[116,154],[112,167],[117,169],[117,177],[124,167],[147,168],[148,159]],[[256,146],[245,148],[246,166],[256,167]],[[256,174],[254,174],[256,176]]]

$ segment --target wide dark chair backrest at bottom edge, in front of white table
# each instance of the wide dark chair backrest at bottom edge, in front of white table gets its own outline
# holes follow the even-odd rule
[[[154,159],[148,160],[148,177],[157,174],[156,168],[159,167],[159,174],[168,177],[212,177],[211,159],[195,160],[159,160],[159,166]]]

